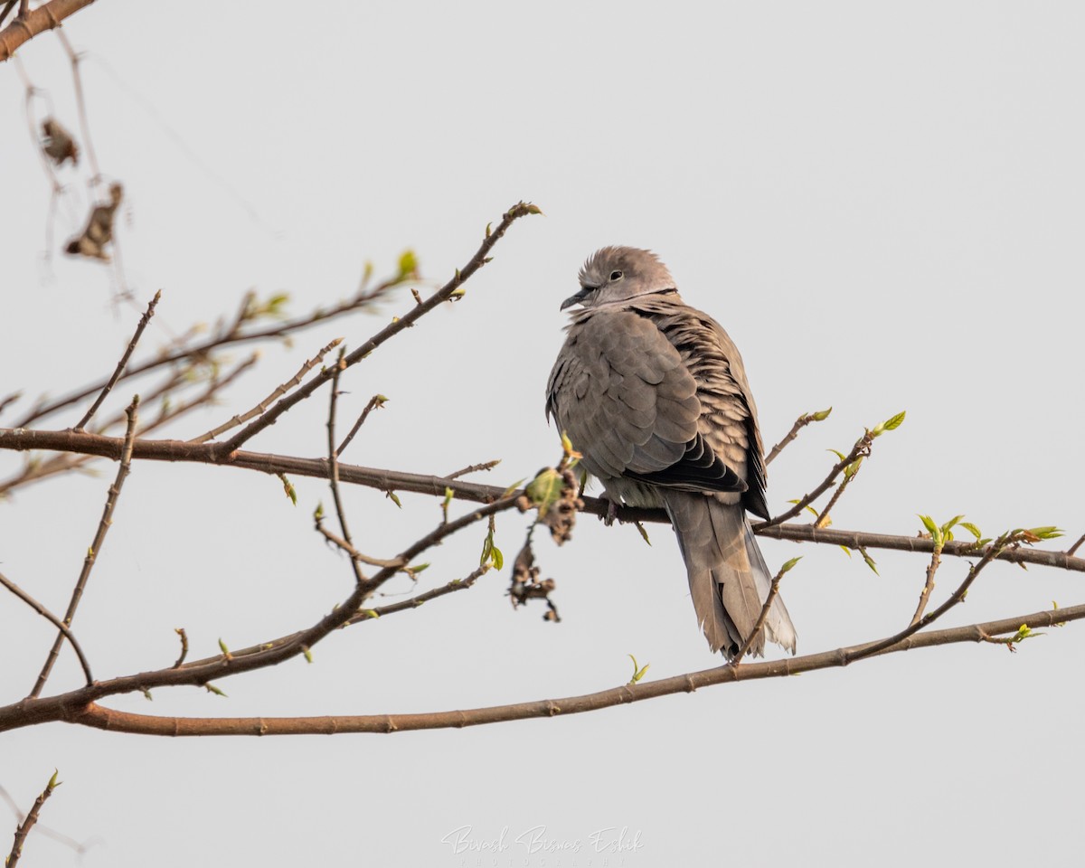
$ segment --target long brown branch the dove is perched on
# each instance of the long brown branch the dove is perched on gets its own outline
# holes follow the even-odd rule
[[[0,450],[25,451],[28,449],[46,449],[119,459],[123,447],[124,437],[110,437],[102,434],[75,431],[0,429]],[[220,459],[215,455],[214,444],[193,444],[173,439],[137,439],[132,448],[132,459],[191,461],[204,464],[220,462]],[[310,476],[320,480],[327,480],[329,472],[328,459],[326,458],[298,458],[296,456],[246,450],[234,452],[230,457],[229,467],[257,470],[271,474],[289,473],[296,476]],[[506,490],[496,485],[482,485],[462,480],[452,480],[447,476],[380,470],[357,464],[340,464],[340,482],[350,485],[363,485],[382,492],[413,492],[442,498],[445,496],[446,489],[450,488],[457,498],[476,503],[489,503],[500,498]],[[600,498],[584,498],[584,511],[593,515],[604,516],[608,506],[608,501]],[[624,522],[639,521],[664,524],[668,522],[666,513],[661,509],[622,507],[617,511],[617,518]],[[847,546],[853,549],[894,549],[897,551],[927,553],[934,550],[934,542],[923,537],[814,527],[809,524],[780,524],[768,527],[755,526],[754,532],[758,536],[790,539],[793,542],[818,542]],[[943,556],[956,558],[979,558],[983,556],[984,551],[984,549],[976,549],[970,542],[958,540],[946,542],[942,549]],[[1076,573],[1085,573],[1085,558],[1073,557],[1063,551],[1049,551],[1025,547],[1012,548],[999,554],[998,560],[1010,561],[1011,563],[1034,563],[1060,570],[1070,570]]]

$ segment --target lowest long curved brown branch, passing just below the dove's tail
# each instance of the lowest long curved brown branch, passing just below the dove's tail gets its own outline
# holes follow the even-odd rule
[[[879,651],[872,656],[932,648],[958,642],[984,642],[992,636],[1017,633],[1022,624],[1032,628],[1085,618],[1085,605],[1074,605],[1031,615],[970,624],[944,630],[920,633],[902,642]],[[65,716],[68,723],[145,736],[296,736],[335,735],[342,732],[401,732],[413,729],[446,729],[524,720],[533,717],[559,717],[598,711],[613,705],[627,705],[671,693],[692,692],[702,687],[735,684],[762,678],[781,678],[805,672],[846,666],[855,655],[873,643],[838,648],[817,654],[764,663],[745,663],[740,666],[719,666],[714,669],[676,675],[659,681],[637,684],[586,693],[564,699],[537,700],[512,705],[497,705],[464,711],[431,712],[423,714],[371,714],[328,717],[155,717],[131,714],[90,704],[72,709]],[[863,658],[864,660],[868,658]]]

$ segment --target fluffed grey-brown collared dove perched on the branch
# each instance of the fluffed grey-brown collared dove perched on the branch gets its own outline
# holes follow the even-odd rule
[[[686,561],[697,618],[730,659],[753,630],[771,575],[745,511],[768,518],[757,409],[742,357],[719,324],[687,305],[648,251],[603,247],[580,269],[569,336],[547,386],[547,414],[605,496],[663,507]],[[792,653],[777,597],[765,635]]]

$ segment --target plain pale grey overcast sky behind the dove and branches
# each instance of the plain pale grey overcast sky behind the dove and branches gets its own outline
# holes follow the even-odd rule
[[[124,182],[119,228],[140,304],[163,301],[143,350],[229,314],[248,288],[297,312],[356,288],[363,263],[418,252],[424,276],[462,266],[520,199],[545,217],[510,230],[464,301],[435,311],[345,378],[341,418],[376,392],[346,460],[448,473],[501,458],[507,485],[558,456],[542,392],[562,341],[560,302],[604,244],[656,251],[686,299],[742,349],[767,443],[832,405],[773,464],[779,511],[861,433],[898,410],[834,526],[896,534],[965,513],[990,536],[1085,531],[1081,490],[1081,291],[1085,278],[1085,8],[1073,2],[233,3],[103,0],[68,20],[87,52],[99,162]],[[56,39],[20,50],[77,128]],[[112,370],[137,315],[110,305],[106,268],[54,255],[49,188],[14,65],[0,68],[3,307],[0,394],[53,394]],[[81,178],[56,244],[81,228]],[[255,217],[253,216],[255,215]],[[78,224],[78,226],[77,226]],[[357,345],[413,303],[268,347],[258,371],[193,436],[246,409],[302,358]],[[238,354],[241,355],[240,353]],[[127,400],[136,386],[119,390]],[[252,443],[319,456],[326,392]],[[10,423],[14,412],[0,418]],[[72,424],[75,416],[58,420]],[[18,467],[0,454],[0,475]],[[114,469],[0,503],[0,562],[63,611]],[[174,628],[196,654],[311,623],[349,589],[311,529],[327,486],[138,463],[75,622],[99,677],[159,668]],[[356,537],[388,557],[439,518],[431,498],[349,490]],[[510,557],[526,518],[503,515]],[[433,711],[573,695],[714,664],[677,546],[650,528],[582,519],[562,549],[540,539],[563,621],[511,611],[506,574],[423,610],[336,633],[295,661],[221,685],[158,690],[155,714]],[[434,552],[422,587],[465,575],[482,529]],[[803,554],[782,592],[808,653],[903,627],[926,561],[766,540]],[[947,561],[937,601],[967,564]],[[406,583],[392,588],[408,590]],[[965,624],[1085,600],[1080,575],[998,564]],[[33,685],[52,631],[0,597],[0,697]],[[1085,771],[1085,633],[1049,630],[1010,655],[954,646],[846,671],[706,689],[564,719],[464,731],[166,740],[55,724],[5,733],[0,783],[42,817],[101,843],[82,865],[489,866],[443,842],[508,828],[497,865],[1076,864]],[[774,652],[777,653],[777,652]],[[78,685],[65,651],[50,687]],[[0,809],[0,827],[14,817]],[[545,827],[580,852],[529,854]],[[639,850],[591,852],[627,828]],[[41,837],[27,865],[75,864]]]

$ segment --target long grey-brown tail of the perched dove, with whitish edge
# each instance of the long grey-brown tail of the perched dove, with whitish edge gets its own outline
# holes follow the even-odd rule
[[[753,630],[773,582],[745,510],[688,492],[665,492],[663,499],[686,561],[698,623],[713,651],[733,656]],[[779,596],[751,654],[764,652],[766,635],[794,653],[795,628]]]

